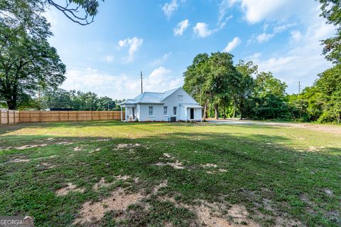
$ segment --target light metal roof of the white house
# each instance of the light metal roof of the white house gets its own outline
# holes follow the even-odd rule
[[[176,90],[178,90],[180,88],[174,88],[172,90],[166,90],[163,93],[144,92],[144,93],[141,93],[140,95],[137,95],[133,99],[128,99],[124,102],[119,103],[119,105],[121,105],[121,104],[136,104],[136,103],[162,103],[163,100],[166,100],[167,97],[171,96],[173,93],[175,93]]]

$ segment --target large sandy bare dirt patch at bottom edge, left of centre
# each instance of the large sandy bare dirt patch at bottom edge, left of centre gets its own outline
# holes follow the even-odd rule
[[[92,223],[103,218],[108,211],[124,211],[131,204],[136,204],[143,196],[139,193],[128,194],[119,188],[113,191],[111,196],[102,199],[102,201],[87,201],[82,205],[79,216],[74,221],[75,224]]]

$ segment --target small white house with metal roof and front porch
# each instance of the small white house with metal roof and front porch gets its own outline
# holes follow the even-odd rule
[[[128,99],[119,105],[126,109],[126,121],[202,120],[202,107],[183,88],[175,88],[164,93],[141,93],[134,99]],[[123,118],[122,111],[121,118]]]

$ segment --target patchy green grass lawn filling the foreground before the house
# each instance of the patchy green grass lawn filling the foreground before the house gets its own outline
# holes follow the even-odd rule
[[[341,127],[21,124],[0,142],[0,215],[36,226],[341,225]]]

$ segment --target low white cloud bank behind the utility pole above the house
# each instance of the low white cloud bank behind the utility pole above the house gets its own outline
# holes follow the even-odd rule
[[[99,96],[113,99],[132,98],[141,92],[139,76],[129,76],[124,73],[112,75],[99,70],[68,70],[67,79],[61,86],[65,90],[91,91]],[[144,78],[144,90],[163,92],[183,85],[182,75],[173,75],[171,70],[163,67],[156,68]]]

